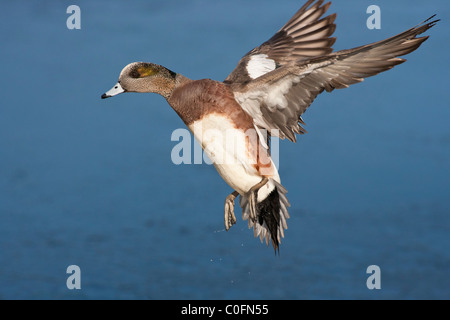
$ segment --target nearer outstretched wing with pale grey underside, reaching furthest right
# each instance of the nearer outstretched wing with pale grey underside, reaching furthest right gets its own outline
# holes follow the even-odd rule
[[[433,16],[434,17],[434,16]],[[430,19],[432,19],[431,17]],[[291,61],[257,79],[232,83],[237,102],[272,136],[296,141],[305,133],[301,115],[324,90],[347,88],[405,62],[428,36],[417,37],[439,21],[420,25],[389,39],[309,60]]]

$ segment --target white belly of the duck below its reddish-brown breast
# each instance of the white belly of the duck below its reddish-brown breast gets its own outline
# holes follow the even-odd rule
[[[213,162],[215,168],[228,185],[245,195],[251,187],[263,178],[254,164],[247,148],[247,136],[242,130],[220,114],[211,114],[195,121],[189,126],[195,139]],[[271,160],[272,161],[272,160]],[[272,162],[277,182],[280,177]],[[264,199],[273,190],[271,183],[266,184],[258,192],[258,198]]]

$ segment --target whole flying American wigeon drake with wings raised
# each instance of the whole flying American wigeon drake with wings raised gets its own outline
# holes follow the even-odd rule
[[[309,0],[272,38],[247,53],[223,82],[191,80],[157,64],[134,62],[102,95],[162,95],[234,190],[225,200],[226,230],[236,223],[234,201],[240,195],[243,219],[255,237],[271,241],[275,252],[287,229],[290,204],[268,138],[295,142],[296,134],[306,132],[301,116],[317,95],[405,62],[399,56],[416,50],[428,38],[417,36],[438,21],[428,22],[430,18],[389,39],[332,52],[336,14],[322,18],[330,5]]]

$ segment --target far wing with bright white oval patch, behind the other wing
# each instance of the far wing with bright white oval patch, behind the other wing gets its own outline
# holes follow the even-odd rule
[[[331,53],[336,14],[320,19],[331,5],[323,1],[309,0],[272,38],[247,53],[224,82],[245,83],[292,61]]]

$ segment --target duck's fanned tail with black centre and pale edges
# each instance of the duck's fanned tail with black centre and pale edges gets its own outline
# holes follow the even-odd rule
[[[261,242],[266,239],[269,245],[269,238],[275,249],[275,254],[280,251],[281,238],[284,238],[284,230],[287,229],[286,220],[289,219],[287,208],[290,207],[286,198],[287,190],[278,182],[270,179],[269,184],[273,190],[264,199],[257,199],[256,221],[249,219],[250,208],[247,197],[241,196],[239,205],[242,208],[242,218],[248,220],[249,229],[253,227],[255,238],[259,237]]]

